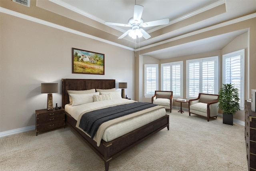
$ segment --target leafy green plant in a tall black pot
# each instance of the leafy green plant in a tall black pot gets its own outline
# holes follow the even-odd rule
[[[223,84],[219,91],[218,106],[223,110],[223,123],[233,125],[233,115],[240,110],[239,90],[234,84]]]

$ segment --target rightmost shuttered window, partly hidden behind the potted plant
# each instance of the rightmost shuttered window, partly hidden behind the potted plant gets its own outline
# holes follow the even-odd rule
[[[244,110],[244,49],[222,56],[222,83],[239,89],[240,107]]]

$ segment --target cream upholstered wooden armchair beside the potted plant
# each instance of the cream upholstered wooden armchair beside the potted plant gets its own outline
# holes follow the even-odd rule
[[[195,114],[207,118],[207,121],[210,120],[210,117],[218,116],[218,98],[217,94],[205,94],[199,93],[196,99],[190,99],[188,101],[188,110],[189,115]]]

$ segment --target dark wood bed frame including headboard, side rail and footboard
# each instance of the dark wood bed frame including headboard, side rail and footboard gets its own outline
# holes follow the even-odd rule
[[[86,89],[110,89],[115,87],[115,80],[92,80],[92,79],[62,79],[62,107],[69,103],[67,90]],[[148,123],[130,133],[127,133],[113,141],[101,141],[97,146],[96,141],[76,128],[76,120],[65,111],[66,124],[69,125],[78,135],[92,148],[92,150],[104,161],[105,171],[108,171],[109,163],[119,155],[125,153],[144,139],[154,135],[158,131],[167,127],[169,130],[169,115],[165,115],[156,121]]]

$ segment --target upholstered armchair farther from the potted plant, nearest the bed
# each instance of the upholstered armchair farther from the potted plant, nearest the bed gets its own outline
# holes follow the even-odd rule
[[[172,112],[172,91],[155,91],[151,101],[153,104],[162,105]]]

